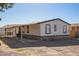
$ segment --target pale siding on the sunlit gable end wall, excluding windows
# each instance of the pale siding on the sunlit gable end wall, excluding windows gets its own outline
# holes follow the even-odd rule
[[[50,24],[51,34],[46,34],[45,33],[46,24]],[[56,25],[56,31],[54,31],[54,25]],[[63,26],[64,25],[67,26],[67,33],[63,33]],[[50,36],[50,35],[69,35],[68,24],[66,24],[66,23],[64,23],[64,22],[62,22],[60,20],[41,23],[41,36]]]

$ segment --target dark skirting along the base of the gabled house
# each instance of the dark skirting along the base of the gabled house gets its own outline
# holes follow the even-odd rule
[[[55,35],[55,36],[23,35],[23,38],[35,39],[35,40],[54,40],[54,39],[68,39],[69,35]]]

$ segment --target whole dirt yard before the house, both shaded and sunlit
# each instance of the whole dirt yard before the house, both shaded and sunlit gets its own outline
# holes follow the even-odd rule
[[[0,40],[0,56],[79,56],[79,40]]]

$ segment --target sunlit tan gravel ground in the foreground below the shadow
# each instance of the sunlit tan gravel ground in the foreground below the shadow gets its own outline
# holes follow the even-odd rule
[[[77,48],[77,49],[76,49]],[[79,56],[79,46],[29,47],[15,49],[24,56]]]

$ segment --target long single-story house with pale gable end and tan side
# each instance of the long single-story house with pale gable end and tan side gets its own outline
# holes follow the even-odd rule
[[[5,28],[6,37],[16,37],[22,34],[23,37],[32,39],[53,39],[69,36],[69,23],[60,18],[43,22],[15,25]]]

